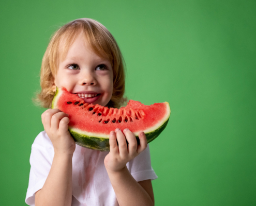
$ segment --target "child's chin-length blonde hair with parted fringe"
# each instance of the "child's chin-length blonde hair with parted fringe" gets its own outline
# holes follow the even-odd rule
[[[119,108],[126,99],[125,92],[125,64],[124,59],[114,37],[109,30],[92,19],[77,19],[59,28],[52,36],[43,55],[40,85],[41,92],[35,101],[42,107],[51,108],[54,85],[54,75],[57,74],[58,62],[63,60],[70,45],[83,32],[85,39],[94,52],[111,62],[113,68],[113,94],[107,104],[108,107]]]

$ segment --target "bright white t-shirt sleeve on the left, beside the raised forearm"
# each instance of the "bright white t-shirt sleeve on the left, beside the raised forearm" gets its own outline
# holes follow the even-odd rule
[[[51,140],[45,131],[36,137],[31,150],[29,162],[31,169],[25,202],[35,205],[35,194],[40,190],[47,179],[51,169],[54,150]]]

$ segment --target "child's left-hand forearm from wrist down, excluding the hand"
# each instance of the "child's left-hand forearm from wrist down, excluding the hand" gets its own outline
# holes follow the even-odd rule
[[[36,206],[70,206],[72,200],[72,155],[54,155],[42,189],[37,192]]]

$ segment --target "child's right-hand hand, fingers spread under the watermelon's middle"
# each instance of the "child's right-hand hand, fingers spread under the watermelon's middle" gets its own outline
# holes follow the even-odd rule
[[[122,170],[127,162],[138,156],[147,147],[147,139],[144,132],[139,133],[139,145],[135,135],[129,129],[124,129],[123,132],[119,128],[110,132],[110,152],[104,159],[104,165],[109,171]],[[128,145],[126,140],[129,143]]]

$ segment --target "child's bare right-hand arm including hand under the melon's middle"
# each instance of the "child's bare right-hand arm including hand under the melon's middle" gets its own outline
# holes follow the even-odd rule
[[[140,145],[137,147],[134,134],[129,130],[124,130],[124,134],[119,129],[110,133],[110,153],[104,160],[117,201],[121,206],[154,205],[151,181],[137,182],[126,167],[128,161],[138,156],[147,147],[146,136],[144,132],[140,132]],[[129,143],[128,146],[126,140]]]

